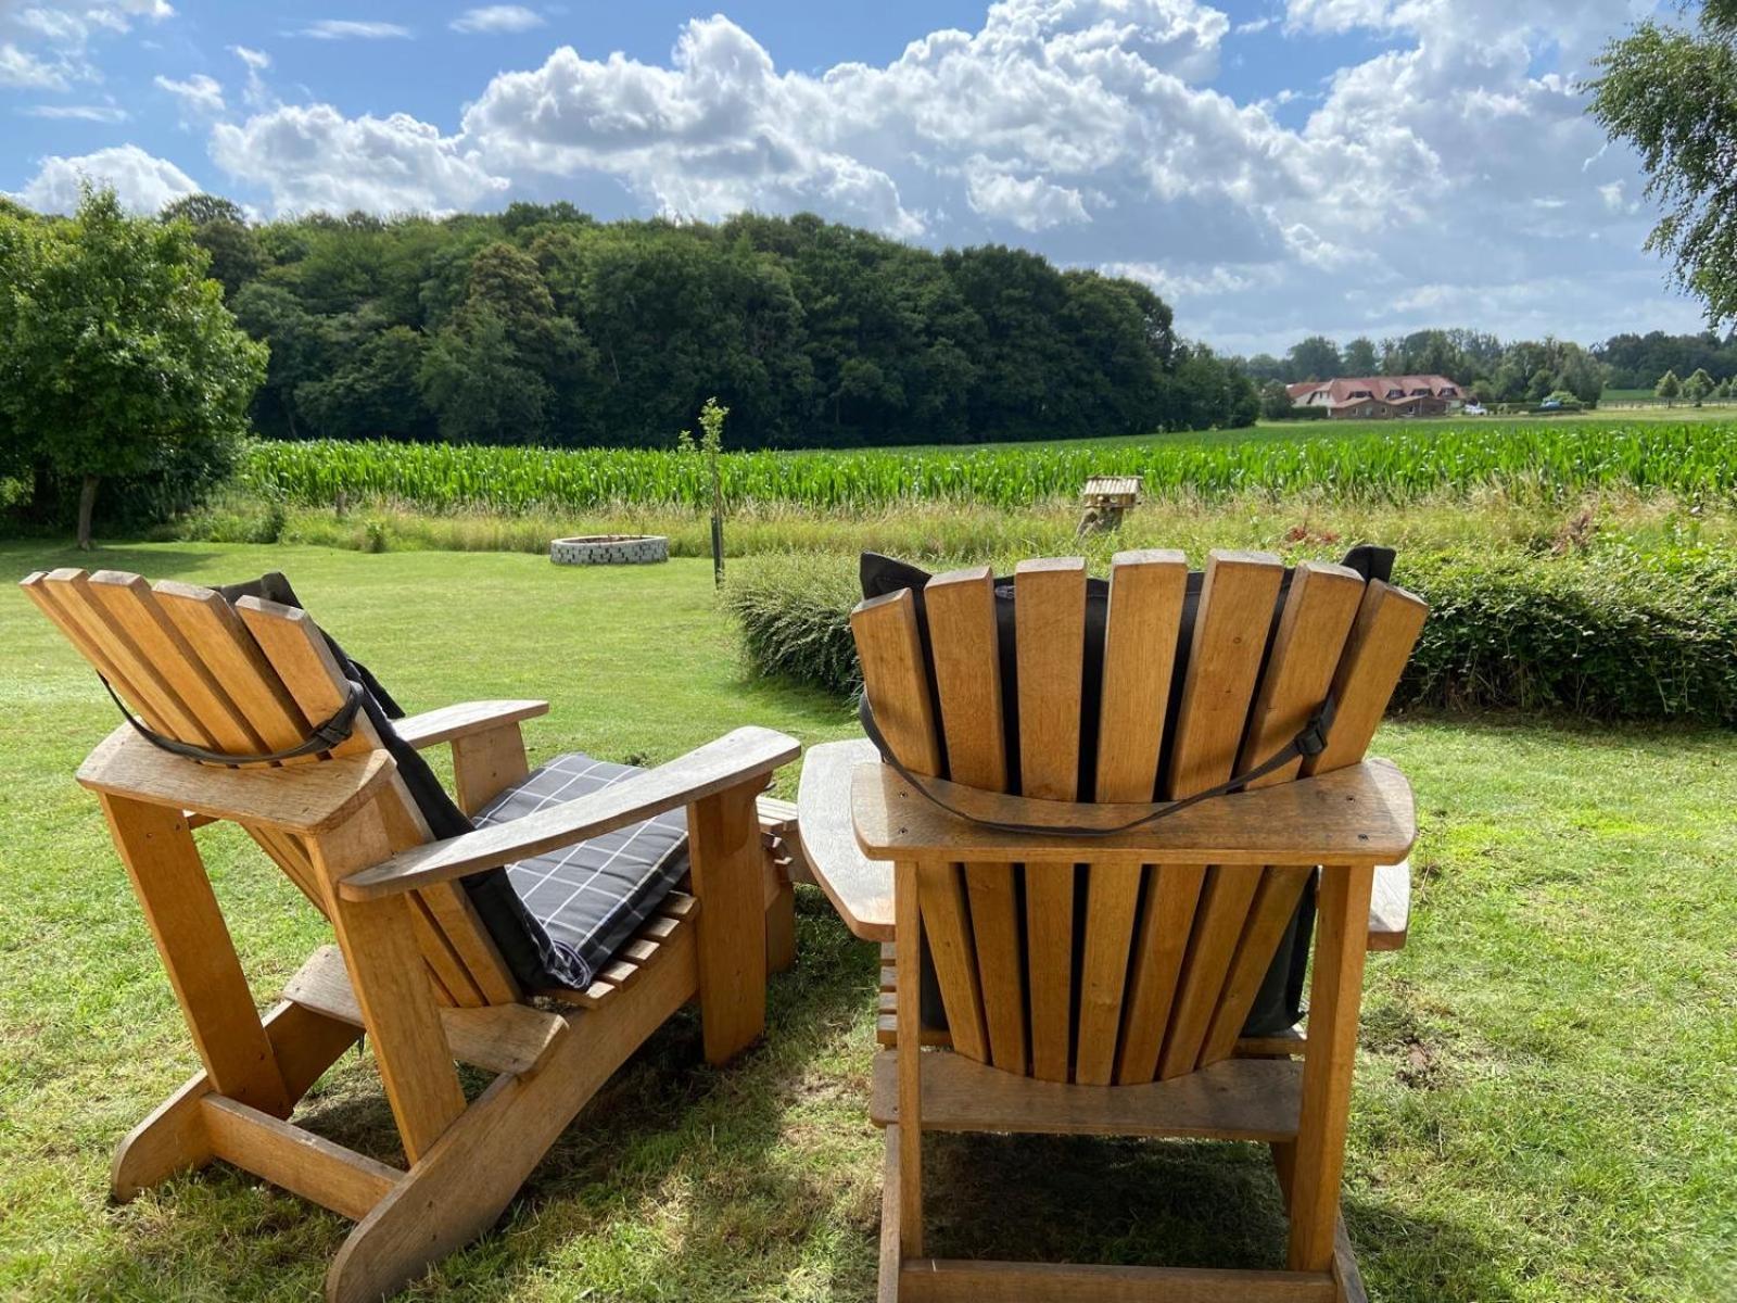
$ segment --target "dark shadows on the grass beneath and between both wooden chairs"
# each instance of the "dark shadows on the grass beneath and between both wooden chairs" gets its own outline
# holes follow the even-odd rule
[[[502,1223],[408,1296],[872,1298],[881,1143],[867,1068],[879,957],[813,888],[797,909],[801,959],[771,982],[764,1044],[707,1068],[698,1018],[672,1018],[563,1133]],[[299,1121],[401,1162],[372,1065],[354,1053]],[[948,1134],[926,1150],[926,1228],[940,1256],[1284,1265],[1265,1147]],[[349,1232],[222,1164],[106,1216],[115,1234],[56,1293],[309,1298]],[[1509,1298],[1497,1246],[1470,1227],[1355,1199],[1346,1221],[1376,1298]]]

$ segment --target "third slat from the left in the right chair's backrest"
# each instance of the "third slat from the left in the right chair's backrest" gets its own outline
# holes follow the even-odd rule
[[[1086,667],[1086,561],[1051,558],[1014,566],[1020,691],[1020,787],[1027,797],[1073,801],[1080,771]],[[1073,1041],[1072,863],[1025,869],[1025,964],[1032,1075],[1068,1081]],[[988,978],[985,975],[985,1004]]]

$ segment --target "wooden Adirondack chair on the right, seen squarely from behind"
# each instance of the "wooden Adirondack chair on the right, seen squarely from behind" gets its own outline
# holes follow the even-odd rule
[[[848,919],[884,912],[884,877],[870,869],[893,863],[895,968],[882,999],[896,1034],[877,1055],[872,1100],[886,1128],[882,1300],[1362,1296],[1339,1178],[1364,954],[1376,865],[1403,860],[1414,837],[1403,777],[1364,751],[1426,608],[1343,566],[1303,565],[1275,627],[1280,561],[1214,552],[1167,719],[1185,577],[1179,552],[1115,558],[1089,804],[1063,804],[1082,773],[1082,561],[1016,570],[1016,721],[1002,718],[988,570],[924,587],[935,697],[908,589],[851,615],[881,731],[910,773],[933,775],[924,787],[992,823],[1073,829],[985,827],[943,811],[893,766],[858,764],[853,860],[830,846],[835,820],[808,820],[804,775],[809,865]],[[1325,751],[1145,827],[1079,836],[1148,813],[1155,796],[1181,799],[1254,768],[1329,690],[1337,714]],[[1002,796],[1014,730],[1023,794]],[[823,782],[818,768],[815,778]],[[1317,872],[1308,1030],[1242,1041]],[[926,1025],[915,999],[924,950],[945,1029]],[[1289,1270],[926,1258],[924,1131],[1266,1141],[1289,1206]]]

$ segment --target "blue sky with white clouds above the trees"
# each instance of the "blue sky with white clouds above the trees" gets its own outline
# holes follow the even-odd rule
[[[1152,283],[1235,351],[1694,330],[1579,78],[1645,0],[0,0],[0,191],[815,210]]]

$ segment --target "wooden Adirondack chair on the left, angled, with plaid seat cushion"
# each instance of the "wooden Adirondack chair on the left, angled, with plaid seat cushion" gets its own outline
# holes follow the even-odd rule
[[[231,608],[210,589],[120,572],[35,573],[24,591],[151,730],[179,742],[281,751],[344,702],[346,679],[301,610],[254,598]],[[519,721],[545,711],[474,702],[398,731],[417,747],[452,744],[474,813],[526,777]],[[790,931],[756,796],[796,754],[792,738],[740,728],[592,796],[434,841],[365,714],[328,754],[243,768],[168,754],[122,724],[78,780],[102,803],[205,1068],[120,1145],[115,1195],[224,1159],[356,1220],[327,1275],[330,1300],[412,1280],[493,1225],[584,1103],[690,999],[709,1062],[759,1037],[768,943],[785,962]],[[672,891],[589,989],[519,990],[459,879],[681,806],[691,891]],[[247,829],[337,938],[264,1018],[191,836],[214,820]],[[363,1032],[408,1171],[288,1121]],[[467,1103],[455,1060],[499,1075]]]

